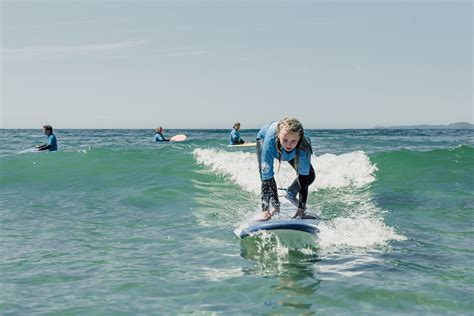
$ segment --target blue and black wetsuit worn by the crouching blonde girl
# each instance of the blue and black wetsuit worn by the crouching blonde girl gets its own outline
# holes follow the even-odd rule
[[[268,211],[270,203],[279,208],[280,202],[278,200],[278,191],[274,179],[274,159],[278,159],[277,150],[277,135],[276,127],[278,122],[272,122],[265,125],[257,133],[257,159],[260,171],[260,178],[262,180],[262,209]],[[298,166],[296,166],[296,155],[300,147]],[[287,152],[281,148],[282,161],[288,163],[296,170],[298,168],[298,178],[288,187],[288,191],[294,195],[300,193],[299,208],[306,208],[306,200],[308,198],[308,186],[314,181],[316,175],[311,166],[311,140],[309,137],[304,137],[300,140],[298,146],[292,151]]]

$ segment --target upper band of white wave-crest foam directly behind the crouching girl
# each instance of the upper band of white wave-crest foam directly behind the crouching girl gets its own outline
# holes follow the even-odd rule
[[[215,149],[195,149],[193,154],[198,163],[229,177],[242,189],[256,194],[260,192],[256,154]],[[310,191],[350,185],[363,187],[375,180],[374,173],[377,171],[377,167],[362,151],[312,156],[311,163],[315,168],[316,180],[310,186]],[[281,162],[279,169],[278,165],[278,161],[275,161],[275,180],[278,186],[287,187],[296,178],[296,173],[285,161]]]

